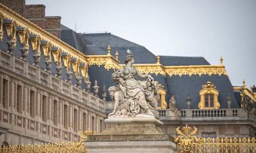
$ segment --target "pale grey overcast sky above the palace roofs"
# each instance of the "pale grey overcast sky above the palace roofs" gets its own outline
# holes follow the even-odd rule
[[[256,0],[26,0],[78,33],[111,32],[155,55],[220,57],[233,86],[256,85]],[[75,24],[76,23],[76,24]],[[160,59],[161,63],[161,59]]]

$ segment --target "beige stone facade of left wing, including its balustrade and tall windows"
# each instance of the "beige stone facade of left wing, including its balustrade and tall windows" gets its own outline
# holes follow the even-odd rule
[[[1,144],[73,142],[87,127],[105,129],[102,99],[4,51],[0,67]]]

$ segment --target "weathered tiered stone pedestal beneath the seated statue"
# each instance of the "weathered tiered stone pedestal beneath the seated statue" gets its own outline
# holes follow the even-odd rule
[[[176,153],[173,137],[161,130],[163,122],[149,115],[105,119],[107,128],[87,136],[88,153]]]

